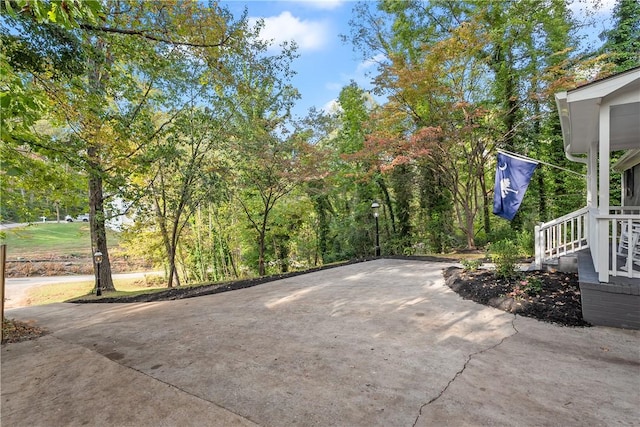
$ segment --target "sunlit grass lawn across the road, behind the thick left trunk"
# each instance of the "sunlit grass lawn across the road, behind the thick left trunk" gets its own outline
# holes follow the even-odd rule
[[[5,230],[2,243],[8,258],[91,256],[91,235],[86,222],[34,223]],[[107,231],[109,247],[117,244],[117,233]]]

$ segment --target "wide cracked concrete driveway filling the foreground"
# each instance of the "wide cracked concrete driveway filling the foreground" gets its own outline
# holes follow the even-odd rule
[[[445,266],[10,310],[51,334],[2,347],[2,425],[638,425],[640,332],[462,300]]]

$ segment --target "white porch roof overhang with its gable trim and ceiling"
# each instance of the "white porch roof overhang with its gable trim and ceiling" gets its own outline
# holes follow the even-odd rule
[[[640,148],[640,68],[556,94],[565,151],[599,142],[600,106],[610,106],[610,150]]]

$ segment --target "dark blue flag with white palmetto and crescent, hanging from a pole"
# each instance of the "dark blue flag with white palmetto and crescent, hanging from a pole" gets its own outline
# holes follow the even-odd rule
[[[511,221],[520,208],[524,193],[538,163],[498,153],[493,213]]]

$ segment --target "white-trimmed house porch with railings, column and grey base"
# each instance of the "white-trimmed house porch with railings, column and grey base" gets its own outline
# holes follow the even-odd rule
[[[587,166],[586,206],[536,226],[536,264],[577,257],[583,317],[640,329],[640,67],[556,94],[565,155]],[[612,165],[611,153],[624,153]],[[610,206],[611,170],[622,206]]]

